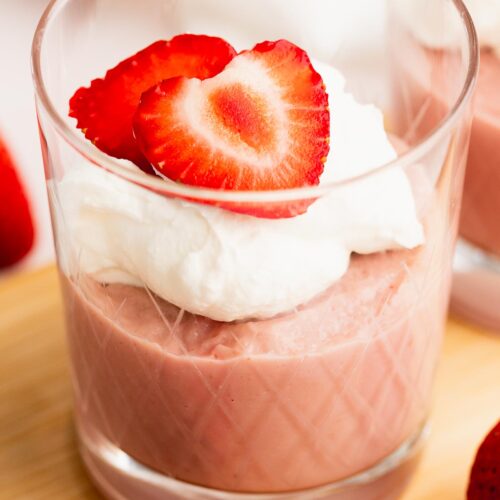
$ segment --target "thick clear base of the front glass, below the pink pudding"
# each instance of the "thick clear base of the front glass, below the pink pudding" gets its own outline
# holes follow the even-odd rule
[[[178,481],[142,465],[96,432],[79,426],[80,453],[96,486],[110,500],[395,500],[420,458],[429,433],[424,424],[396,451],[368,470],[307,490],[234,493]]]

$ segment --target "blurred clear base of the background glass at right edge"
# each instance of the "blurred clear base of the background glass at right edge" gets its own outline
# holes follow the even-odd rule
[[[452,312],[500,331],[500,257],[459,240],[453,267]]]

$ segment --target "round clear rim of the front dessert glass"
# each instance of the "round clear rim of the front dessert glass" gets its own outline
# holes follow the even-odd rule
[[[460,90],[460,94],[446,116],[427,133],[417,144],[405,151],[401,156],[390,162],[383,163],[378,167],[363,174],[358,174],[339,181],[330,181],[317,186],[307,186],[300,188],[269,190],[269,191],[230,191],[213,188],[203,188],[180,184],[176,182],[165,182],[161,177],[154,177],[142,172],[139,168],[130,169],[123,164],[123,160],[113,158],[95,147],[76,128],[71,127],[66,121],[67,117],[62,116],[54,106],[49,92],[45,86],[45,81],[41,68],[41,52],[44,35],[50,22],[55,18],[61,8],[73,0],[51,0],[42,14],[35,30],[31,47],[31,71],[34,82],[37,105],[40,104],[48,114],[52,125],[57,133],[80,155],[91,163],[104,170],[117,175],[134,184],[159,194],[175,195],[193,200],[212,200],[228,202],[275,202],[287,200],[302,200],[308,198],[318,198],[339,187],[359,182],[371,176],[377,175],[395,166],[405,167],[416,163],[418,158],[431,149],[446,134],[457,120],[460,119],[464,108],[470,101],[474,92],[477,73],[479,68],[479,43],[476,29],[471,15],[467,10],[463,0],[451,0],[458,11],[463,25],[465,26],[468,42],[468,67],[465,80]]]

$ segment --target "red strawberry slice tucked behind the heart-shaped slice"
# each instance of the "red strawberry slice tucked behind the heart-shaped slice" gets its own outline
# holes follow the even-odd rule
[[[224,40],[205,35],[179,35],[155,42],[109,70],[103,79],[77,90],[70,100],[69,115],[99,149],[150,171],[132,133],[132,117],[141,94],[165,78],[212,77],[235,55]]]

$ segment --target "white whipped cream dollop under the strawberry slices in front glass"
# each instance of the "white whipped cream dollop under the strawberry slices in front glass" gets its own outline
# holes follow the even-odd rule
[[[332,113],[321,183],[394,159],[382,113],[357,103],[336,70],[315,66]],[[68,169],[52,192],[76,257],[77,269],[62,256],[65,272],[147,286],[180,308],[220,321],[292,310],[341,278],[352,252],[423,242],[411,186],[399,167],[337,187],[290,219],[166,198],[85,164]]]

